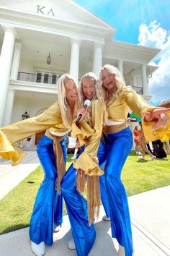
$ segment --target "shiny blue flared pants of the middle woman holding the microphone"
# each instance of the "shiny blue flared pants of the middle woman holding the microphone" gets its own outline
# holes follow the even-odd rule
[[[100,142],[99,154],[104,152],[104,142]],[[103,154],[102,154],[103,155]],[[79,157],[79,156],[78,156]],[[101,158],[101,157],[100,157]],[[106,159],[101,159],[100,168],[104,166]],[[101,199],[104,210],[109,217],[109,202],[106,193],[106,184],[104,175],[100,177]],[[62,195],[64,197],[68,218],[71,223],[71,231],[76,244],[76,252],[78,256],[86,256],[89,254],[96,238],[94,223],[89,226],[87,202],[86,199],[76,190],[76,169],[73,164],[63,176],[61,182]]]

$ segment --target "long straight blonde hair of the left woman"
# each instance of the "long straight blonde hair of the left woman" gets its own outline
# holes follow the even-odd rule
[[[73,80],[73,77],[71,77],[69,74],[63,74],[58,79],[58,83],[57,83],[58,103],[61,108],[61,116],[63,119],[63,124],[65,124],[66,127],[71,128],[71,121],[73,120],[73,116],[71,114],[71,109],[66,100],[66,90],[65,90],[65,82],[67,82],[68,80],[72,80],[76,85],[76,88],[78,87],[75,80]]]

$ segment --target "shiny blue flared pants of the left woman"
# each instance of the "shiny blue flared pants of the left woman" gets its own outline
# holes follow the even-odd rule
[[[61,141],[63,157],[66,163],[66,139]],[[44,180],[40,184],[35,199],[31,220],[30,240],[35,244],[45,242],[53,244],[53,223],[63,222],[63,196],[55,190],[57,169],[53,152],[53,139],[43,135],[37,143],[37,155],[44,171]]]

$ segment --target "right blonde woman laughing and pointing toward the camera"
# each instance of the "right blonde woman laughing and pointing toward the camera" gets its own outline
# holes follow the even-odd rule
[[[128,198],[121,181],[122,167],[133,145],[132,132],[126,124],[128,110],[130,108],[143,117],[145,129],[148,131],[150,129],[147,135],[148,140],[151,141],[153,136],[151,127],[153,129],[164,127],[165,132],[155,133],[155,136],[164,136],[164,140],[169,136],[169,127],[167,126],[169,126],[170,115],[166,113],[170,109],[148,106],[140,95],[125,85],[122,74],[112,65],[107,64],[102,67],[99,81],[109,115],[103,130],[106,148],[104,155],[100,155],[99,162],[106,160],[104,175],[109,200],[112,237],[115,237],[120,244],[118,255],[132,256],[133,240]]]

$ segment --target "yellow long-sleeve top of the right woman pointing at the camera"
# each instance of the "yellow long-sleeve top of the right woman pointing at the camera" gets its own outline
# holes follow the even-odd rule
[[[108,119],[111,121],[127,121],[129,108],[141,116],[146,111],[153,111],[155,106],[149,106],[146,101],[130,87],[123,87],[120,93],[117,95],[116,100],[111,100],[107,103]],[[156,129],[152,131],[151,127],[155,123],[143,121],[143,132],[146,137],[146,141],[162,140],[166,141],[170,138],[170,113],[168,113],[169,122],[164,128]]]

